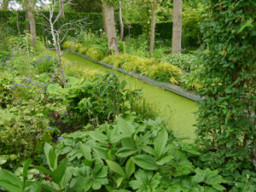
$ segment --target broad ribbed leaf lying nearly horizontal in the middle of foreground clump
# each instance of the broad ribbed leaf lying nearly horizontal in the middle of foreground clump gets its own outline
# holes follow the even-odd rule
[[[154,158],[147,154],[139,154],[133,158],[133,161],[135,162],[135,164],[137,166],[140,166],[141,168],[143,168],[145,170],[157,170],[158,169]]]

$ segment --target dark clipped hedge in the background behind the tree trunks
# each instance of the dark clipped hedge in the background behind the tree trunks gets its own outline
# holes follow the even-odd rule
[[[47,12],[44,12],[45,15],[47,15]],[[26,26],[26,20],[25,20],[25,12],[19,11],[19,22],[20,22],[20,32],[25,31]],[[90,30],[91,32],[96,32],[99,29],[103,29],[103,21],[102,21],[102,14],[101,13],[71,13],[67,12],[65,13],[65,19],[61,20],[61,22],[69,21],[69,20],[79,20],[82,18],[87,18],[86,22],[86,28]],[[36,15],[36,23],[39,21],[42,22],[43,18]],[[9,26],[10,31],[12,33],[18,34],[17,30],[17,14],[14,11],[0,11],[0,24],[4,23]],[[117,28],[119,29],[119,17],[116,14],[115,20],[117,23]],[[56,25],[60,25],[60,22]],[[196,37],[190,37],[188,32],[191,30],[195,30],[195,27],[193,25],[188,25],[188,27],[183,26],[183,47],[195,47],[198,45],[198,38]],[[200,29],[198,29],[200,32]],[[184,32],[187,32],[184,34]],[[37,35],[43,36],[44,34],[44,26],[37,24]],[[131,37],[137,37],[139,35],[143,34],[143,25],[140,23],[132,23],[130,26],[130,35]],[[166,39],[172,39],[172,21],[167,22],[160,22],[156,23],[156,29],[155,29],[156,39],[157,40],[166,40]],[[125,36],[129,35],[129,29],[128,26],[125,26]],[[201,35],[201,34],[200,34]]]

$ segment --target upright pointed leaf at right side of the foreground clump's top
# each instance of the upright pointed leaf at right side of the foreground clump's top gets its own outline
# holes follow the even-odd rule
[[[163,154],[165,148],[166,148],[166,143],[168,141],[168,133],[166,129],[160,131],[154,141],[154,150],[157,154],[157,157],[160,158],[161,155]]]

